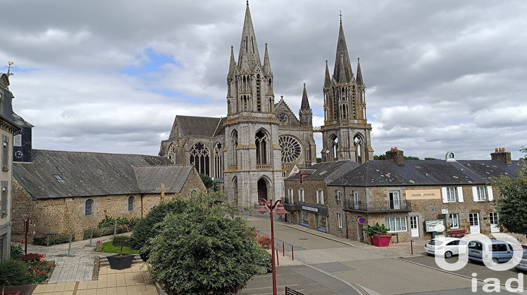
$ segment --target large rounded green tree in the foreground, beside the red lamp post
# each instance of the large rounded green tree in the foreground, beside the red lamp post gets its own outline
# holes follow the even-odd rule
[[[169,294],[235,294],[259,273],[267,252],[255,229],[220,195],[198,193],[169,214],[148,243],[152,277]],[[223,195],[224,196],[224,195]]]

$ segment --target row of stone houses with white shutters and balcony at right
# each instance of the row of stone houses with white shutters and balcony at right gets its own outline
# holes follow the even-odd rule
[[[405,161],[403,151],[395,147],[386,152],[386,161],[338,168],[327,166],[322,169],[329,176],[325,187],[323,182],[310,181],[311,175],[320,176],[320,169],[301,170],[299,175],[285,181],[289,194],[285,199],[289,203],[286,208],[292,209],[292,222],[307,223],[310,228],[318,229],[320,226],[312,223],[316,222],[318,213],[314,209],[320,206],[323,194],[327,232],[362,242],[367,242],[362,227],[377,222],[384,223],[396,234],[392,242],[427,240],[437,232],[444,235],[452,230],[500,232],[499,217],[492,202],[500,192],[492,187],[490,177],[514,176],[520,166],[519,161],[511,160],[511,153],[505,148],[496,149],[490,155],[490,160],[460,160],[448,153],[444,161]],[[341,176],[330,180],[332,173]],[[304,199],[304,194],[308,204],[297,204],[299,196]],[[358,223],[360,217],[367,221],[364,225]],[[435,226],[438,224],[444,229]]]

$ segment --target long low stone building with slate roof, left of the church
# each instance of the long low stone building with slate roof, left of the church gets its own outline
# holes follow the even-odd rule
[[[34,216],[33,235],[82,231],[105,218],[138,218],[176,193],[205,190],[196,169],[165,157],[32,150],[13,163],[13,216]],[[13,240],[22,240],[22,223]]]

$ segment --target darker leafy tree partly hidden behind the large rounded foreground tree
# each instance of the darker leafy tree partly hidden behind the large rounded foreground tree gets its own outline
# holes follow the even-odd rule
[[[176,197],[176,199],[169,202],[161,202],[150,212],[145,218],[140,218],[134,232],[132,232],[129,247],[132,249],[139,250],[139,254],[144,261],[148,260],[148,250],[143,247],[148,244],[151,238],[157,236],[160,232],[160,228],[157,227],[157,223],[163,221],[164,217],[169,213],[182,213],[186,209],[186,202],[183,201],[182,197]]]

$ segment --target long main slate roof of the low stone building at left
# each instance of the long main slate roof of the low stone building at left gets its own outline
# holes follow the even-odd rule
[[[134,166],[166,164],[148,155],[33,150],[32,162],[13,163],[13,177],[34,199],[123,195],[141,192]]]

